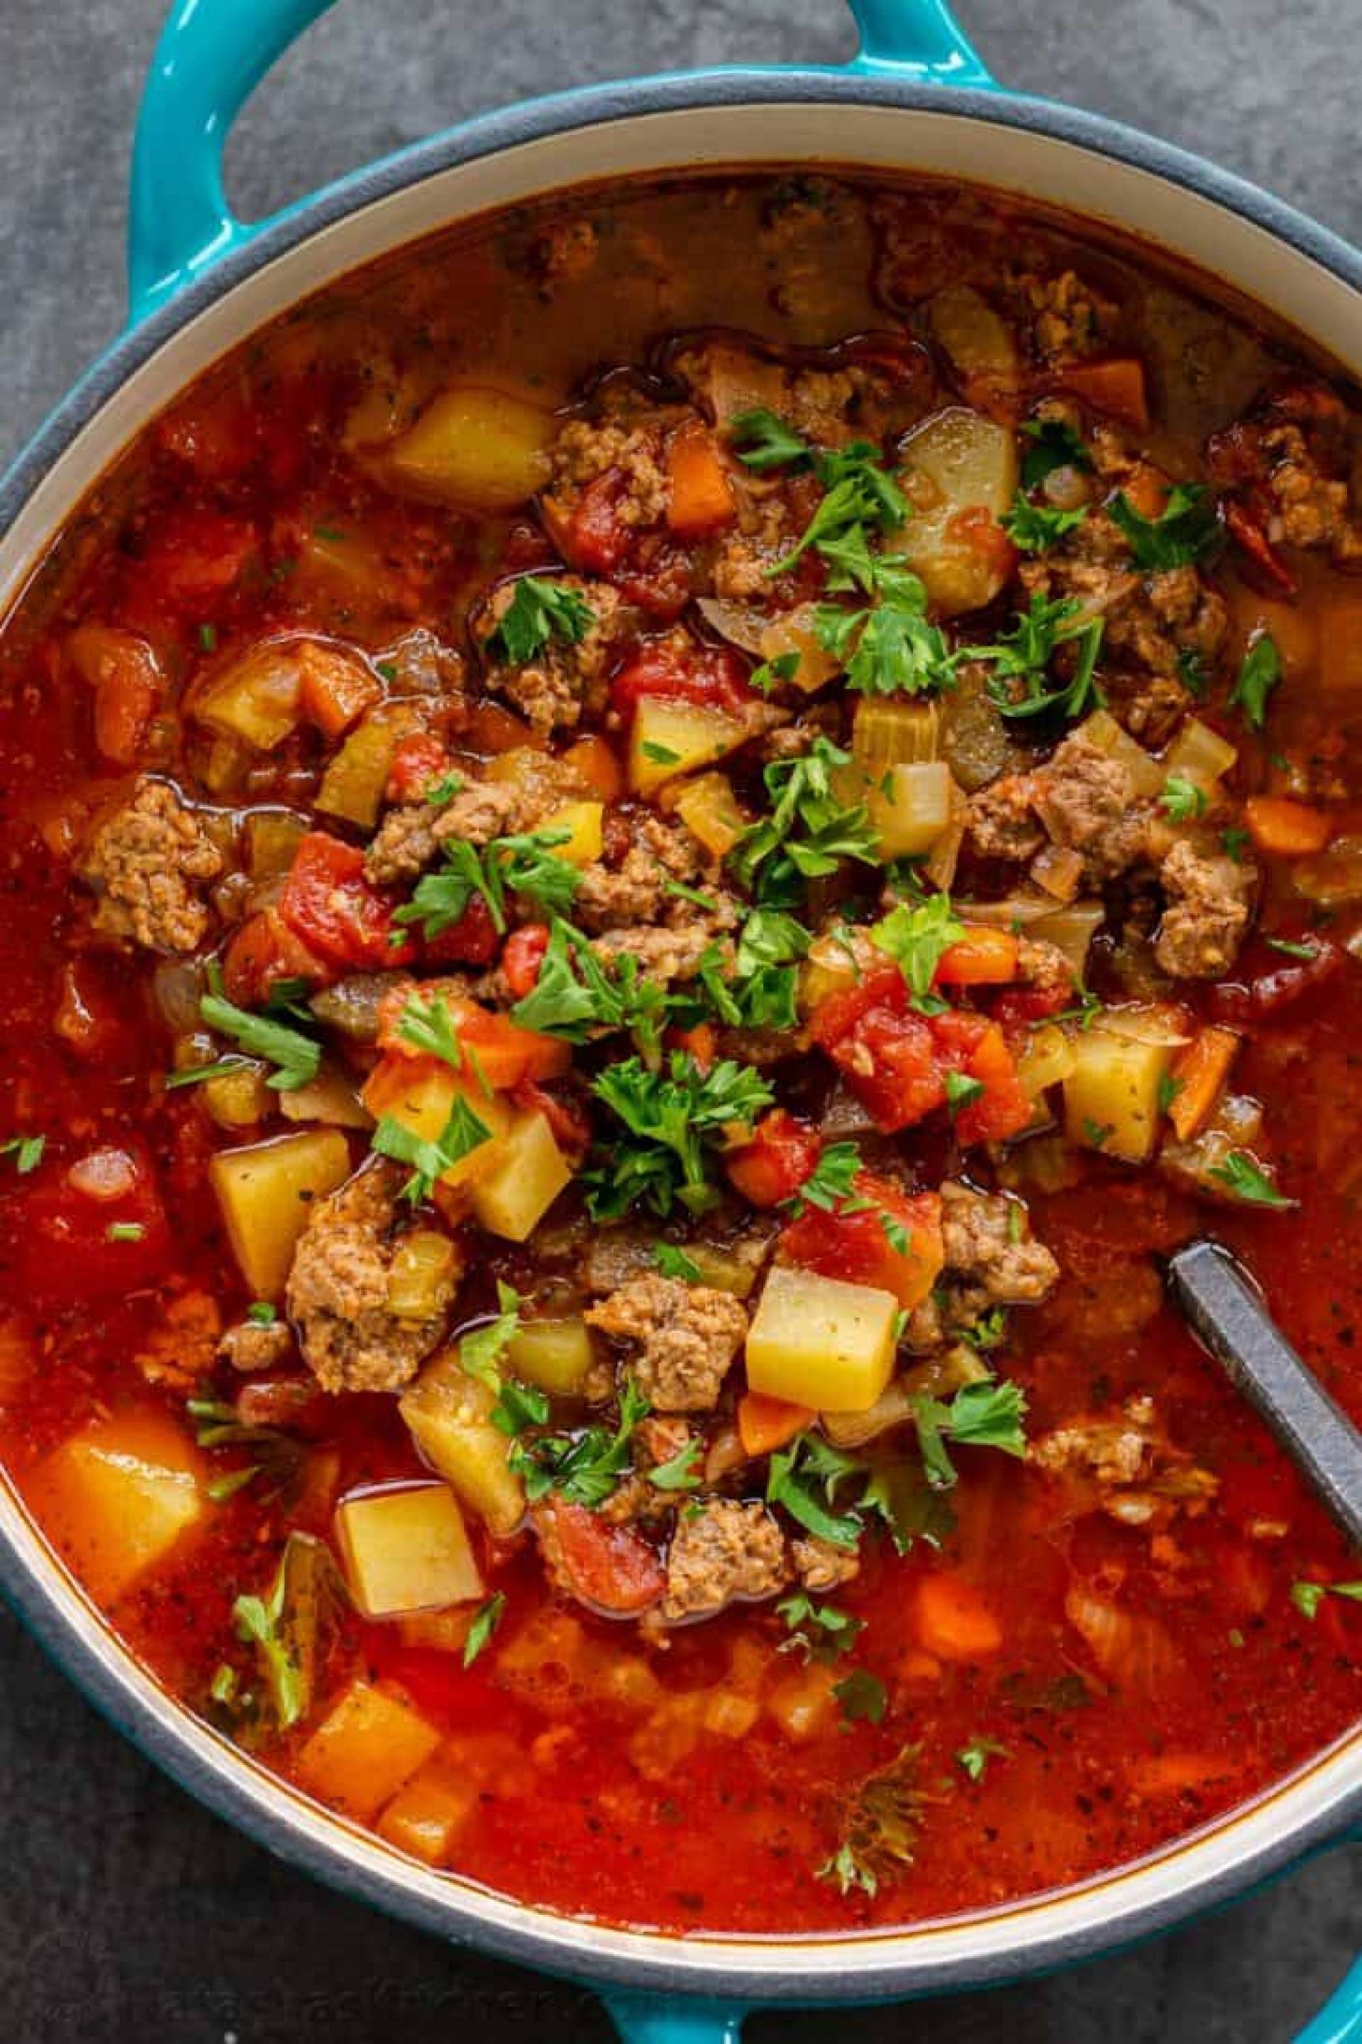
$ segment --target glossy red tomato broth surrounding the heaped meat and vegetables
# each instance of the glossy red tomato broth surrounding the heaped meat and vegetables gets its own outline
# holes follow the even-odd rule
[[[737,204],[751,208],[741,180],[737,190]],[[670,247],[694,229],[700,256],[668,272],[666,325],[717,317],[715,284],[702,276],[704,247],[721,235],[717,208],[664,192],[625,200],[619,211],[629,233],[660,235]],[[519,225],[508,233],[523,253]],[[547,378],[566,390],[598,360],[635,360],[658,313],[651,294],[635,290],[611,303],[600,292],[590,319],[578,303],[564,321],[549,321],[533,278],[502,270],[492,245],[490,237],[474,247],[459,239],[435,253],[433,268],[390,270],[396,290],[382,307],[370,282],[341,286],[327,317],[284,321],[259,352],[243,352],[210,386],[218,394],[206,411],[172,415],[102,484],[92,523],[74,531],[10,621],[0,668],[0,779],[8,791],[0,863],[10,879],[0,893],[0,1136],[39,1126],[47,1151],[33,1173],[0,1167],[0,1455],[39,1519],[37,1472],[90,1419],[147,1408],[184,1423],[184,1386],[147,1384],[129,1367],[165,1306],[202,1292],[229,1325],[251,1298],[206,1181],[221,1132],[206,1128],[192,1091],[161,1094],[155,1075],[165,1069],[165,1030],[145,975],[125,957],[88,946],[65,867],[39,838],[39,830],[47,844],[53,832],[80,836],[127,787],[127,777],[118,781],[94,752],[90,691],[51,679],[61,672],[61,634],[78,617],[145,634],[167,699],[178,699],[186,679],[204,668],[204,628],[221,654],[276,630],[353,634],[382,646],[412,621],[447,615],[451,603],[461,615],[510,521],[474,527],[402,501],[345,456],[345,417],[372,378],[363,350],[378,347],[376,335],[392,321],[412,356],[421,350],[410,335],[423,331],[474,366],[510,350],[527,382]],[[470,303],[457,311],[441,309],[435,288],[451,274],[468,282]],[[768,300],[768,282],[743,282],[733,317],[774,343],[827,341],[874,323],[872,315],[884,319],[868,300],[854,251],[821,309],[796,300],[786,313]],[[1168,307],[1186,300],[1166,282],[1158,292],[1172,331]],[[555,335],[541,331],[547,327]],[[1262,352],[1258,339],[1235,345],[1254,360]],[[1186,417],[1174,431],[1190,431]],[[351,576],[349,587],[341,578],[337,593],[333,570],[312,558],[317,548],[308,556],[319,525],[361,542],[372,572]],[[106,544],[110,531],[116,544]],[[302,566],[300,550],[308,556]],[[259,756],[231,799],[306,803],[323,756],[319,736],[302,728]],[[153,719],[143,760],[186,785],[200,783],[210,744],[202,730],[167,715],[163,728]],[[376,928],[366,924],[374,948],[386,936],[386,926]],[[1256,971],[1284,963],[1258,950],[1252,961]],[[51,1032],[67,967],[82,975],[94,1016],[84,1051]],[[1356,1098],[1360,1026],[1354,967],[1327,997],[1250,1030],[1235,1085],[1266,1102],[1288,1094],[1291,1112],[1272,1122],[1272,1139],[1280,1186],[1301,1204],[1282,1214],[1215,1210],[1217,1233],[1246,1257],[1288,1337],[1358,1419],[1362,1374],[1352,1345],[1362,1273],[1350,1247],[1362,1179],[1340,1108]],[[233,1130],[231,1141],[243,1134],[249,1130]],[[359,1155],[363,1139],[351,1141]],[[927,1159],[941,1136],[923,1139],[917,1153],[913,1128],[903,1141],[909,1157]],[[57,1224],[69,1208],[63,1173],[104,1147],[125,1149],[145,1175],[151,1204],[127,1212],[149,1220],[165,1212],[169,1226],[149,1224],[139,1243],[108,1245],[86,1216],[74,1257],[71,1233]],[[1199,1204],[1103,1159],[1088,1159],[1072,1190],[1027,1186],[1027,1200],[1037,1237],[1066,1273],[1060,1290],[1035,1312],[1017,1314],[1011,1329],[1007,1374],[1027,1390],[1029,1431],[1039,1435],[1088,1404],[1107,1408],[1152,1390],[1170,1437],[1219,1476],[1217,1506],[1150,1541],[1062,1504],[1039,1470],[958,1451],[956,1527],[939,1551],[917,1547],[898,1560],[872,1545],[862,1576],[837,1592],[864,1621],[856,1664],[886,1686],[884,1723],[843,1731],[831,1709],[807,1739],[782,1731],[766,1707],[737,1737],[686,1729],[684,1699],[729,1688],[743,1694],[743,1682],[749,1694],[768,1694],[800,1676],[796,1654],[776,1658],[788,1631],[772,1611],[739,1605],[711,1623],[674,1627],[666,1652],[645,1654],[619,1625],[568,1613],[543,1586],[527,1535],[482,1539],[488,1588],[506,1596],[506,1617],[472,1668],[461,1668],[457,1652],[408,1643],[394,1623],[343,1613],[323,1672],[327,1692],[357,1670],[396,1684],[482,1782],[451,1854],[459,1874],[566,1913],[682,1932],[917,1921],[1139,1858],[1280,1780],[1356,1723],[1362,1611],[1325,1598],[1307,1621],[1291,1600],[1295,1582],[1346,1580],[1356,1564],[1260,1423],[1150,1290],[1152,1259],[1205,1224]],[[116,1222],[125,1208],[110,1204],[108,1212]],[[114,1247],[131,1251],[127,1261]],[[459,1318],[468,1320],[466,1308],[490,1308],[494,1273],[525,1282],[531,1269],[525,1253],[498,1251],[494,1265],[476,1273]],[[1131,1298],[1150,1310],[1135,1314]],[[27,1365],[6,1361],[10,1343]],[[218,1459],[206,1453],[214,1474],[218,1461],[227,1472],[241,1459],[235,1449]],[[253,1486],[239,1490],[212,1511],[206,1531],[110,1613],[137,1658],[194,1707],[202,1709],[225,1656],[241,1662],[233,1600],[259,1586],[290,1527],[325,1535],[337,1498],[429,1474],[392,1400],[357,1394],[329,1400],[317,1437],[304,1435],[302,1470],[319,1476],[312,1492],[300,1478],[302,1504],[288,1492],[261,1498]],[[1282,1521],[1284,1537],[1254,1537],[1264,1519]],[[945,1572],[986,1602],[999,1631],[994,1652],[947,1660],[923,1647],[915,1594],[923,1578]],[[1095,1666],[1064,1615],[1076,1586],[1115,1594],[1135,1627],[1158,1625],[1166,1652],[1156,1692]],[[553,1625],[566,1627],[557,1654]],[[517,1668],[517,1645],[533,1641],[537,1627],[547,1627],[545,1652]],[[747,1668],[751,1647],[768,1672],[735,1676],[735,1656]],[[611,1670],[621,1662],[647,1668],[649,1682],[639,1684],[649,1694],[645,1709],[611,1692]],[[833,1674],[841,1678],[841,1670]],[[668,1725],[680,1754],[670,1764]],[[265,1741],[267,1764],[288,1776],[306,1729]],[[958,1762],[972,1739],[1005,1748],[978,1780]],[[829,1850],[829,1807],[905,1744],[919,1748],[923,1850],[874,1897],[839,1895],[811,1878]]]

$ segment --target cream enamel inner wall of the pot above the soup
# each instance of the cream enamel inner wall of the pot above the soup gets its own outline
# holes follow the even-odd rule
[[[455,219],[553,186],[700,164],[790,159],[935,172],[1072,206],[1164,243],[1288,319],[1362,374],[1362,315],[1348,284],[1213,200],[1076,143],[952,112],[845,102],[637,114],[433,174],[321,229],[239,282],[137,368],[43,478],[0,544],[0,605],[22,589],[53,531],[151,413],[245,333],[331,278]],[[645,1972],[651,1960],[666,1966],[670,1985],[690,1981],[700,1989],[707,1972],[741,1966],[756,1991],[768,1981],[776,1995],[794,1970],[805,1981],[839,1981],[852,1991],[858,1964],[866,1970],[892,1966],[898,1991],[907,1993],[919,1966],[939,1977],[950,1964],[978,1972],[992,1960],[1007,1972],[1009,1960],[1025,1956],[1031,1968],[1060,1948],[1068,1954],[1076,1944],[1101,1950],[1119,1942],[1184,1889],[1213,1883],[1229,1893],[1250,1868],[1278,1858],[1291,1840],[1319,1836],[1329,1813],[1362,1786],[1362,1735],[1356,1735],[1242,1815],[1148,1864],[1052,1899],[909,1934],[780,1942],[696,1936],[682,1942],[570,1923],[398,1860],[376,1840],[282,1788],[178,1711],[123,1654],[4,1490],[0,1529],[27,1555],[47,1598],[65,1607],[84,1650],[118,1670],[129,1701],[155,1721],[159,1750],[178,1748],[218,1807],[241,1811],[243,1791],[263,1799],[304,1856],[325,1846],[355,1872],[382,1876],[396,1905],[400,1897],[431,1907],[447,1903],[451,1893],[461,1895],[488,1932],[515,1940],[529,1930],[537,1960],[570,1975],[609,1972],[621,1962]]]

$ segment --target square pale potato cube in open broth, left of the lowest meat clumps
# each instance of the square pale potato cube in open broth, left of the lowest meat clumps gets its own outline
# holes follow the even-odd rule
[[[343,1498],[335,1537],[349,1594],[366,1619],[439,1611],[482,1596],[464,1513],[447,1484]]]

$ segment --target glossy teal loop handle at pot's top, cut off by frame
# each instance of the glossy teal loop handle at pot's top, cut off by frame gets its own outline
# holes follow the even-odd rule
[[[243,223],[223,190],[231,125],[288,45],[333,0],[174,0],[137,114],[129,192],[129,325],[263,223]],[[847,0],[860,49],[847,69],[917,84],[992,80],[945,0]]]

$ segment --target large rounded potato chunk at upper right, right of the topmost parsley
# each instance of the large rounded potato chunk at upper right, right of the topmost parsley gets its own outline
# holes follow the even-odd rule
[[[954,617],[992,603],[1011,572],[1011,548],[990,544],[1017,489],[1011,429],[964,405],[939,411],[909,433],[901,480],[913,517],[894,546],[935,609]]]

